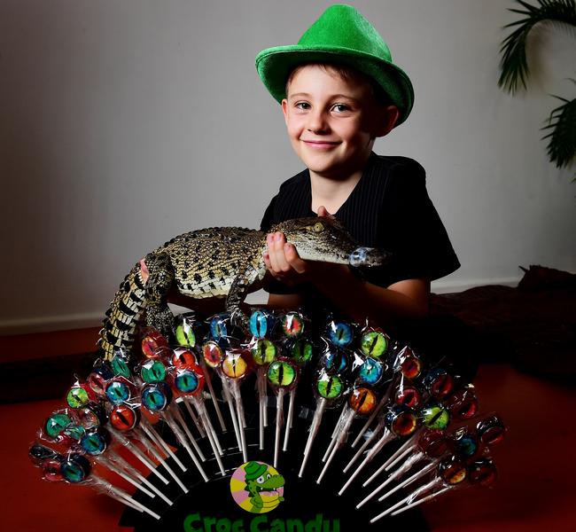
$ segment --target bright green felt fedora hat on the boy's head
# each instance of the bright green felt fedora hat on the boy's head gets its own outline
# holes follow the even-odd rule
[[[300,37],[298,44],[275,46],[256,56],[256,69],[270,94],[281,102],[292,70],[305,63],[353,66],[370,76],[400,110],[396,125],[408,118],[414,89],[408,75],[392,62],[384,39],[350,5],[331,5]]]

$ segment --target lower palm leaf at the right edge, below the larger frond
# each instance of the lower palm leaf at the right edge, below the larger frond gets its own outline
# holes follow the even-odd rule
[[[542,128],[550,132],[542,138],[549,138],[549,160],[556,163],[557,168],[566,168],[576,160],[576,98],[555,98],[563,104],[550,113],[548,125]]]

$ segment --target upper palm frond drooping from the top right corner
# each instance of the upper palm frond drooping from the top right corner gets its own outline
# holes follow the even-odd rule
[[[498,86],[514,94],[520,86],[526,88],[529,69],[526,59],[526,39],[532,28],[544,20],[576,26],[576,0],[537,0],[537,4],[528,4],[516,0],[522,9],[511,9],[524,18],[511,22],[504,28],[516,27],[502,41],[500,52],[501,74]]]

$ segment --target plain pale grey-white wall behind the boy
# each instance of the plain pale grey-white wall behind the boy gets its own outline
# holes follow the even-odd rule
[[[416,87],[377,152],[427,168],[463,263],[436,289],[513,282],[530,263],[576,270],[576,185],[539,130],[549,80],[574,94],[573,35],[542,32],[538,59],[554,65],[512,98],[496,87],[510,2],[351,3]],[[95,323],[146,251],[208,225],[258,226],[301,164],[253,59],[295,43],[328,4],[2,0],[0,330]]]

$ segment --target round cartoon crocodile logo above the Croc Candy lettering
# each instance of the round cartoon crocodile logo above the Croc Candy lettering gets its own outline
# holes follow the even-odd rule
[[[244,500],[240,504],[240,499],[238,499],[237,503],[246,511],[252,513],[270,512],[284,501],[284,477],[274,467],[253,461],[247,462],[238,470],[243,470],[245,474],[242,491],[247,492],[247,497],[241,497]]]

